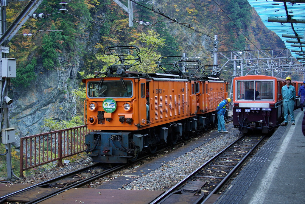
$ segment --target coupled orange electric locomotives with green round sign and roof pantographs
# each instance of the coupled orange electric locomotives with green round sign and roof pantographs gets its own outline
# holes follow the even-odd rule
[[[127,163],[217,125],[214,111],[228,97],[227,82],[196,77],[200,61],[180,56],[158,60],[165,73],[130,71],[141,63],[139,53],[136,46],[107,47],[104,54],[119,60],[83,79],[85,124],[95,130],[86,135],[86,152],[95,162]]]

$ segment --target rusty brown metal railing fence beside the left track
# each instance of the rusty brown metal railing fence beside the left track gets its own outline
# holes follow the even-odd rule
[[[81,153],[86,149],[87,125],[20,138],[20,177],[23,171]]]

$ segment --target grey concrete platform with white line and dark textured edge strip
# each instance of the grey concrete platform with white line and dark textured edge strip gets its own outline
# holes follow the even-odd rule
[[[278,127],[214,204],[305,203],[304,112]]]

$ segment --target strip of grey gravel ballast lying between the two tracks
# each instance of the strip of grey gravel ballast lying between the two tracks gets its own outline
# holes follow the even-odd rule
[[[238,129],[231,128],[228,133],[222,133],[199,148],[165,163],[160,168],[137,178],[122,189],[155,191],[169,189],[237,138],[239,138]],[[138,168],[141,168],[141,166]]]

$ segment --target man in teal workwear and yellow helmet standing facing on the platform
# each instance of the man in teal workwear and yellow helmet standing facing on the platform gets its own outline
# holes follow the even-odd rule
[[[285,79],[286,85],[282,87],[282,97],[283,97],[283,103],[284,103],[284,122],[282,125],[288,124],[288,110],[291,117],[291,123],[294,125],[294,100],[296,99],[296,89],[294,86],[291,86],[291,77],[286,77]]]

